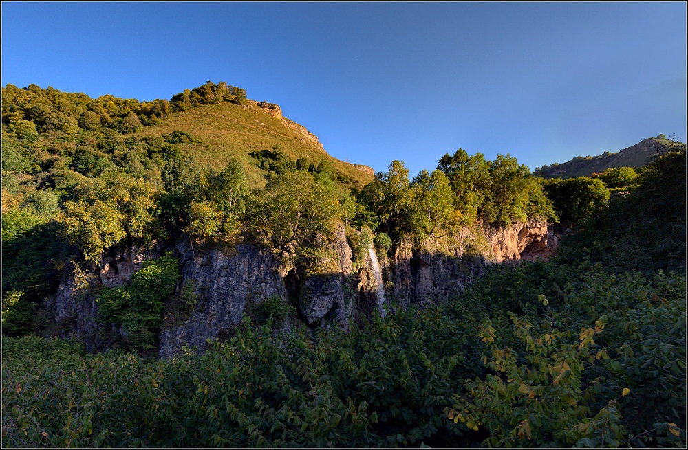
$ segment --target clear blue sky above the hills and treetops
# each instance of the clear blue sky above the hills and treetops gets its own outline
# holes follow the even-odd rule
[[[686,142],[686,3],[2,3],[2,85],[244,87],[328,153],[414,176]]]

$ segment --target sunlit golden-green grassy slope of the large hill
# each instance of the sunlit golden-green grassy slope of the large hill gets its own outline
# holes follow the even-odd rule
[[[147,126],[141,135],[160,135],[173,130],[185,131],[200,138],[200,143],[179,144],[193,155],[201,165],[222,169],[229,159],[237,159],[244,166],[252,185],[265,184],[265,173],[249,153],[270,150],[279,146],[291,159],[306,158],[310,163],[328,161],[345,184],[362,188],[372,181],[372,170],[364,172],[353,164],[340,161],[312,142],[305,133],[288,126],[288,120],[278,119],[249,102],[239,106],[231,102],[197,106],[163,117],[158,124]]]

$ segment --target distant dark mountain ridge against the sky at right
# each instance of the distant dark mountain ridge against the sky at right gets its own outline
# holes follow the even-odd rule
[[[605,152],[597,156],[579,156],[562,164],[544,165],[535,169],[533,175],[548,179],[557,177],[566,179],[589,177],[593,173],[601,173],[612,167],[638,168],[649,164],[653,155],[665,153],[676,144],[663,135],[649,137],[615,153]]]

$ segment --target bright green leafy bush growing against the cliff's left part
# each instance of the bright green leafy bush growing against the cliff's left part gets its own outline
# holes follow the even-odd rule
[[[120,328],[131,350],[155,348],[162,323],[164,302],[175,292],[180,279],[179,260],[162,256],[144,262],[127,286],[105,288],[96,296],[98,317],[103,324]]]

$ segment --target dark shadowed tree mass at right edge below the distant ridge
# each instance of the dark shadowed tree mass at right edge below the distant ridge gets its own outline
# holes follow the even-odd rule
[[[557,259],[601,263],[614,273],[685,271],[685,148],[644,168],[638,187],[567,236]]]

